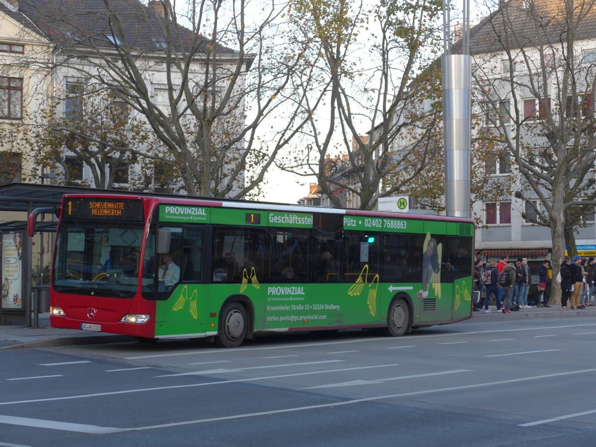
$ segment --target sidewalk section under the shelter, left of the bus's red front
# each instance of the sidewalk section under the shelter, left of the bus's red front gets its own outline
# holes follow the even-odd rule
[[[49,312],[39,314],[38,328],[28,328],[24,325],[0,326],[0,350],[69,346],[70,344],[119,343],[132,340],[134,338],[129,336],[50,327]]]

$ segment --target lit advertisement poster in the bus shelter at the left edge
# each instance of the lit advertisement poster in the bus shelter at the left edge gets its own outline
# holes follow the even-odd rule
[[[22,240],[20,232],[2,234],[2,310],[4,311],[23,309]]]

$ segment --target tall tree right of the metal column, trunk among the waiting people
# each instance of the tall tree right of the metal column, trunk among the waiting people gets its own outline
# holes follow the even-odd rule
[[[492,124],[519,172],[516,197],[536,200],[529,201],[531,219],[550,227],[556,275],[565,244],[576,253],[570,229],[596,204],[596,58],[582,52],[582,41],[596,38],[595,2],[511,0],[489,7],[493,12],[471,39],[477,94],[486,107],[501,110]]]

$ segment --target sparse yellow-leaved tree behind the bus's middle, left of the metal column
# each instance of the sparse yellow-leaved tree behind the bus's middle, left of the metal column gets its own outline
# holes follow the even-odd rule
[[[358,1],[293,2],[293,37],[308,47],[315,82],[307,99],[318,114],[303,132],[306,155],[286,160],[285,169],[316,175],[333,206],[343,205],[334,192],[344,188],[359,208],[373,209],[378,197],[403,191],[433,160],[440,116],[429,94],[439,78],[427,66],[440,44],[440,11],[440,2],[427,0],[383,0],[374,10]],[[417,107],[425,102],[429,107]]]

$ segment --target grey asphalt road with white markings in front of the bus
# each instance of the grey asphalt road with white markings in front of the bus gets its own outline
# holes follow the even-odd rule
[[[0,446],[592,446],[594,318],[0,352]]]

